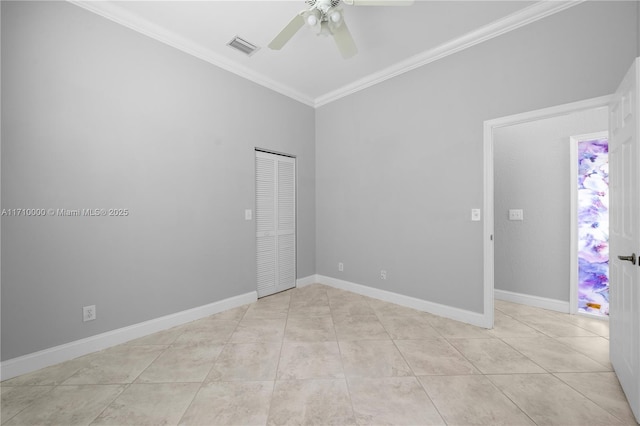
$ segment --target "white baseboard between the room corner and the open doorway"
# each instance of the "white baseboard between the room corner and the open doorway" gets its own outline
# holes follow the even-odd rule
[[[337,278],[317,275],[316,282],[331,287],[347,290],[363,296],[373,297],[374,299],[384,300],[385,302],[395,303],[396,305],[406,306],[408,308],[417,309],[430,314],[450,318],[456,321],[465,322],[467,324],[478,327],[491,328],[490,319],[478,312],[467,311],[464,309],[454,308],[452,306],[441,305],[439,303],[429,302],[427,300],[418,299],[411,296],[405,296],[398,293],[392,293],[386,290],[380,290],[361,284],[355,284],[349,281],[339,280]]]

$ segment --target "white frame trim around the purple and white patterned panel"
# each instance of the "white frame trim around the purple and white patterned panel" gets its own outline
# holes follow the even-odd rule
[[[569,185],[571,193],[571,246],[569,273],[569,313],[578,313],[578,143],[609,139],[609,132],[595,132],[569,137]],[[599,315],[594,315],[599,316]]]

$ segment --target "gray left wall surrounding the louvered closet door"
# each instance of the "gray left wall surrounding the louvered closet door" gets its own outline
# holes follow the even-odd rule
[[[254,147],[298,158],[315,273],[313,109],[65,2],[2,2],[2,359],[255,291]],[[82,306],[98,319],[83,323]]]

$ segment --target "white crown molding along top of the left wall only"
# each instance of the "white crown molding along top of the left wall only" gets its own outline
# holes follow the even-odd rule
[[[314,106],[315,102],[310,96],[306,96],[291,87],[278,83],[264,75],[257,73],[243,65],[230,61],[222,55],[219,55],[203,46],[182,37],[172,31],[167,30],[159,25],[149,22],[140,16],[124,10],[112,1],[92,1],[92,0],[67,0],[68,3],[81,7],[85,10],[93,12],[97,15],[107,18],[129,29],[137,31],[141,34],[151,37],[157,41],[181,50],[196,58],[202,59],[219,68],[246,78],[256,84],[264,86],[298,102]]]

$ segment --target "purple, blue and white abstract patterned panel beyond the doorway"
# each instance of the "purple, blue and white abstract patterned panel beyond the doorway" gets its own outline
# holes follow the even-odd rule
[[[578,311],[609,315],[609,144],[578,142]]]

